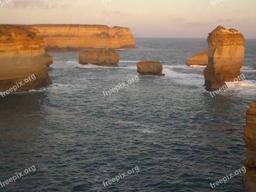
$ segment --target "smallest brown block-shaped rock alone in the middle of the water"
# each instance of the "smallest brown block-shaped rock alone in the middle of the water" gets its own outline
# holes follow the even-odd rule
[[[162,74],[163,66],[159,61],[140,61],[137,63],[137,72],[140,75],[158,75]]]

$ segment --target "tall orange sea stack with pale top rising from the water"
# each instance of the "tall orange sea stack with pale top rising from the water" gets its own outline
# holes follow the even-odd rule
[[[207,38],[208,65],[204,69],[207,91],[218,90],[227,86],[240,76],[244,60],[244,36],[236,29],[218,26]]]

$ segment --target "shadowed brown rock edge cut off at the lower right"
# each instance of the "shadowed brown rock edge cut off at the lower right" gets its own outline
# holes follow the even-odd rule
[[[244,192],[256,190],[256,101],[254,101],[246,113],[246,126],[244,128],[244,141],[246,143],[246,172],[242,183]]]

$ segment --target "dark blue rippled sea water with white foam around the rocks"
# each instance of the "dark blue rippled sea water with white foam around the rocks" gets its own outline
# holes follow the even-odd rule
[[[0,191],[242,191],[245,113],[256,100],[256,40],[247,39],[244,83],[215,97],[202,67],[186,59],[205,39],[137,38],[118,50],[121,67],[82,66],[79,51],[49,52],[53,85],[0,98]],[[136,63],[159,60],[164,77],[140,76]],[[122,67],[124,66],[124,67]],[[105,97],[119,83],[139,77]],[[139,172],[104,187],[103,181]]]

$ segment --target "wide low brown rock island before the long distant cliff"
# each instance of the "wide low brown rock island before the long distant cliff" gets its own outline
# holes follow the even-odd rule
[[[87,65],[88,63],[100,66],[118,66],[119,54],[105,47],[103,50],[87,50],[79,54],[79,63]]]

